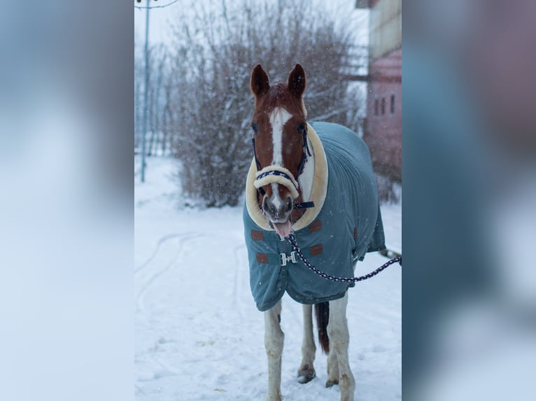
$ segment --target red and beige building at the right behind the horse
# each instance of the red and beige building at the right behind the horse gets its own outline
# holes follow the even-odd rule
[[[402,1],[356,0],[370,8],[367,118],[374,170],[402,182]]]

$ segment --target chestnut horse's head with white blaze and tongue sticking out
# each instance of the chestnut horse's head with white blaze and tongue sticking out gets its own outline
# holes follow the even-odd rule
[[[300,196],[297,177],[306,162],[306,110],[302,100],[305,71],[299,64],[288,82],[269,85],[260,64],[251,73],[255,96],[253,147],[258,173],[255,187],[260,205],[276,232],[286,237],[291,231],[290,214]]]

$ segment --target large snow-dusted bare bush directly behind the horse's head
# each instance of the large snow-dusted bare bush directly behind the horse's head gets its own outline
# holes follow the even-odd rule
[[[248,88],[255,64],[276,82],[299,62],[309,76],[309,119],[355,123],[358,101],[348,98],[342,79],[352,64],[351,32],[328,15],[306,0],[222,0],[218,10],[200,5],[195,18],[175,28],[177,90],[164,89],[165,119],[176,124],[174,152],[190,196],[207,206],[237,205],[241,198],[253,156]]]

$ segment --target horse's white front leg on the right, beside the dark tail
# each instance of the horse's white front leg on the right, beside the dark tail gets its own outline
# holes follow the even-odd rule
[[[331,351],[337,355],[339,365],[339,389],[341,401],[353,401],[355,379],[348,363],[348,322],[346,321],[346,305],[348,293],[338,300],[330,301],[330,322],[327,324],[327,335],[330,337]]]

